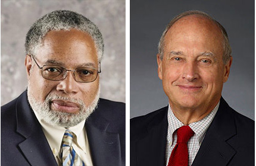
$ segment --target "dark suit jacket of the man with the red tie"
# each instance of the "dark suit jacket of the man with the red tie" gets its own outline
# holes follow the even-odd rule
[[[168,107],[130,120],[130,165],[166,165]],[[254,165],[254,121],[221,98],[192,166]]]

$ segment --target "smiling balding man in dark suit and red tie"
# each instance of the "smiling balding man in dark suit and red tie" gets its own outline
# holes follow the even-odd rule
[[[232,63],[224,27],[201,11],[177,15],[157,63],[168,106],[130,121],[130,165],[254,165],[254,121],[221,97]]]

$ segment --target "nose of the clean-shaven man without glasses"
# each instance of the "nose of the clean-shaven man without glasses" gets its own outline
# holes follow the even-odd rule
[[[199,78],[196,62],[186,62],[184,64],[182,78],[188,80],[189,82],[195,81]]]

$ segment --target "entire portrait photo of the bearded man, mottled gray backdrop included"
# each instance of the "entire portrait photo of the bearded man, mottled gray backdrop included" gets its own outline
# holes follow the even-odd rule
[[[1,165],[125,165],[125,1],[1,1]]]

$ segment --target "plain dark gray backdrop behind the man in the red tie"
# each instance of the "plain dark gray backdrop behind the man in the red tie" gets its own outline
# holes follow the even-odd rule
[[[254,1],[130,1],[130,117],[167,106],[157,75],[157,44],[168,22],[183,11],[207,12],[229,34],[233,63],[223,97],[254,119]]]

